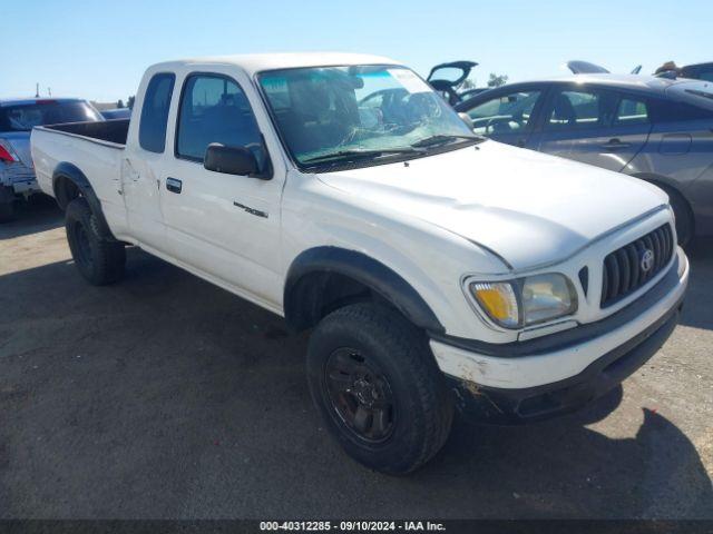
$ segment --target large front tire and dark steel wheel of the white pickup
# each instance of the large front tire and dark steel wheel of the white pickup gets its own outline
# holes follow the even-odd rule
[[[395,310],[333,312],[312,333],[306,367],[329,431],[368,467],[410,473],[446,442],[452,398],[426,336]]]

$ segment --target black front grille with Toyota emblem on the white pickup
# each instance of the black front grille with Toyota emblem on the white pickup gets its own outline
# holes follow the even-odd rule
[[[661,269],[674,251],[671,226],[664,225],[604,258],[602,308],[634,293]]]

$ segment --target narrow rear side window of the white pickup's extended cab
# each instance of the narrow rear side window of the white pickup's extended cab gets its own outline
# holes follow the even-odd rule
[[[144,150],[162,154],[166,148],[166,125],[175,81],[174,75],[162,73],[148,82],[138,130],[138,142]]]

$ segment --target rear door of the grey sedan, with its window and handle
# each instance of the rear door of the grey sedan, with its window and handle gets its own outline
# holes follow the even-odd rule
[[[645,97],[583,85],[555,86],[543,112],[537,149],[621,171],[651,132]]]

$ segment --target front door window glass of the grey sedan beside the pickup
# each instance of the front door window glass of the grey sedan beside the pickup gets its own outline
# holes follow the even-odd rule
[[[502,95],[469,109],[473,131],[480,135],[516,134],[525,130],[540,91],[517,91]]]

